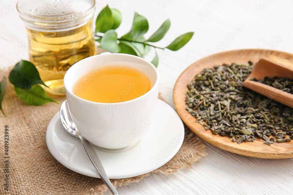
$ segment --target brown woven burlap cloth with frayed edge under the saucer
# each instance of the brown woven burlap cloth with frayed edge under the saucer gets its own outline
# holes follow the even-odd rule
[[[3,78],[0,71],[0,79]],[[5,73],[7,76],[8,73]],[[2,103],[7,115],[0,114],[1,175],[0,194],[103,194],[107,190],[101,179],[81,175],[60,164],[49,152],[45,134],[47,126],[59,111],[65,96],[50,95],[59,102],[30,106],[21,101],[8,82]],[[9,129],[9,191],[4,190],[4,126]],[[200,139],[188,128],[178,153],[165,165],[152,171],[162,174],[177,172],[190,167],[206,155]],[[6,158],[7,159],[7,158]],[[113,179],[114,186],[139,182],[149,173],[125,179]]]

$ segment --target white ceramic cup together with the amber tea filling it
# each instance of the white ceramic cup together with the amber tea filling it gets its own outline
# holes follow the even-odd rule
[[[105,149],[143,138],[154,120],[159,73],[143,58],[100,54],[75,63],[64,76],[70,114],[81,135]]]

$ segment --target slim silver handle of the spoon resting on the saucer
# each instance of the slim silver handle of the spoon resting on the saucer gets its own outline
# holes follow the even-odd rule
[[[86,150],[88,157],[91,159],[93,166],[98,171],[103,182],[105,182],[105,184],[110,189],[112,194],[119,195],[113,184],[110,182],[96,151],[93,149],[93,146],[90,144],[90,142],[84,139],[84,137],[79,136],[79,139],[81,140],[81,143],[84,145],[84,149]]]

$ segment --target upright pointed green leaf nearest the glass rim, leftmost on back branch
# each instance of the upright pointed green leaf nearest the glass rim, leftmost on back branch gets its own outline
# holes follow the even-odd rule
[[[108,5],[99,13],[96,20],[96,33],[110,30],[114,24],[112,12]]]

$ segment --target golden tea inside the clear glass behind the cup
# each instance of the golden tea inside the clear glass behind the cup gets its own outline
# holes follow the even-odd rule
[[[63,77],[74,63],[96,54],[92,20],[71,30],[40,32],[27,28],[30,61],[52,94],[65,94]]]

